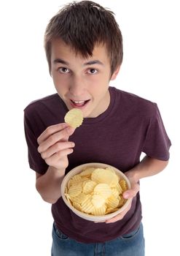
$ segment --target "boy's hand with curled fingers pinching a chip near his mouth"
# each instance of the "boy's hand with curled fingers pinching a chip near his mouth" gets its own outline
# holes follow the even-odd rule
[[[65,170],[69,165],[68,155],[73,152],[74,142],[69,141],[69,136],[74,133],[74,128],[68,124],[55,124],[42,132],[37,139],[38,151],[47,165],[58,170]]]

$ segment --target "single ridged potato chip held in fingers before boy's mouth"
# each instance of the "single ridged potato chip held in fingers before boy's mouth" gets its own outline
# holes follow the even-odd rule
[[[64,121],[66,124],[69,124],[73,128],[79,127],[83,121],[82,110],[79,110],[79,108],[73,108],[69,110],[69,112],[66,113],[66,116],[64,117]]]

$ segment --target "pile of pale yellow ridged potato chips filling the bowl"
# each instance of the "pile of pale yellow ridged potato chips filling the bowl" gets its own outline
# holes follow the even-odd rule
[[[87,167],[70,178],[65,189],[66,199],[85,214],[106,215],[121,208],[126,200],[122,193],[128,189],[111,167]]]

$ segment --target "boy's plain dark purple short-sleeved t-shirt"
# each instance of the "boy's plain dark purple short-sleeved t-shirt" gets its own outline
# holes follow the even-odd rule
[[[70,140],[74,141],[66,173],[87,162],[103,162],[125,172],[140,161],[141,153],[168,160],[171,141],[165,132],[157,105],[134,94],[109,87],[109,108],[97,118],[85,118]],[[31,102],[25,111],[25,132],[31,169],[44,174],[47,164],[37,151],[37,138],[52,124],[64,122],[68,109],[58,94]],[[139,193],[130,211],[117,222],[94,223],[78,217],[62,197],[52,204],[57,227],[70,238],[91,243],[104,242],[130,233],[141,222]]]

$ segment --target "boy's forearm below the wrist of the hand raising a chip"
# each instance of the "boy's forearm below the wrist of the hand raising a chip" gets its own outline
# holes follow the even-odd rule
[[[59,197],[60,185],[63,181],[65,170],[49,167],[47,172],[36,178],[36,189],[47,203],[55,203]]]

